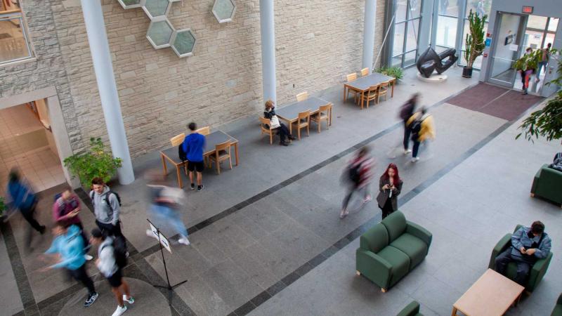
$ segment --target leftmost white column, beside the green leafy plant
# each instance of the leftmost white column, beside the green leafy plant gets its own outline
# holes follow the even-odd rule
[[[125,126],[119,104],[119,95],[113,74],[110,46],[107,43],[105,23],[100,0],[81,0],[84,22],[88,32],[88,42],[92,55],[93,70],[96,72],[98,90],[100,91],[103,116],[110,138],[113,157],[122,159],[122,167],[117,170],[119,183],[126,185],[135,180],[131,154],[125,134]]]

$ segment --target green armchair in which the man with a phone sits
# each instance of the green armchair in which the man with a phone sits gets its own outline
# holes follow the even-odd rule
[[[521,226],[522,225],[517,225],[514,232],[521,228]],[[502,254],[502,252],[507,249],[507,247],[511,246],[511,235],[511,233],[507,233],[502,239],[499,239],[499,242],[497,242],[494,250],[492,250],[492,256],[490,256],[490,263],[488,264],[488,268],[495,269],[496,257],[499,256],[499,254]],[[527,279],[527,284],[525,284],[525,289],[527,291],[532,292],[533,290],[535,290],[537,285],[539,285],[542,277],[544,277],[544,274],[547,273],[547,269],[549,268],[551,259],[552,252],[549,253],[547,258],[539,259],[537,260],[537,262],[535,262],[534,265],[532,265],[532,268],[529,272],[529,277]],[[509,277],[509,279],[514,279],[516,271],[516,263],[509,263],[507,265],[506,276]]]

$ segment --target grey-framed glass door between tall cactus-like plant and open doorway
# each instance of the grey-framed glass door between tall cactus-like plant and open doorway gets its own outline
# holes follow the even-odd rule
[[[493,84],[513,88],[517,74],[513,65],[523,50],[521,39],[526,23],[527,17],[524,15],[497,14],[497,27],[492,37],[495,44],[489,72],[489,81]]]

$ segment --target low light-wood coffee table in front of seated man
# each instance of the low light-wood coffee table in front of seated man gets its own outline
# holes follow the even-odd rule
[[[525,288],[492,269],[484,274],[452,305],[466,316],[500,316],[516,303]]]

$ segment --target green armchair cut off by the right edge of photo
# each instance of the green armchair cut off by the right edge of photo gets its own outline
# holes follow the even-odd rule
[[[562,204],[562,171],[543,164],[532,180],[531,197],[535,195]]]

